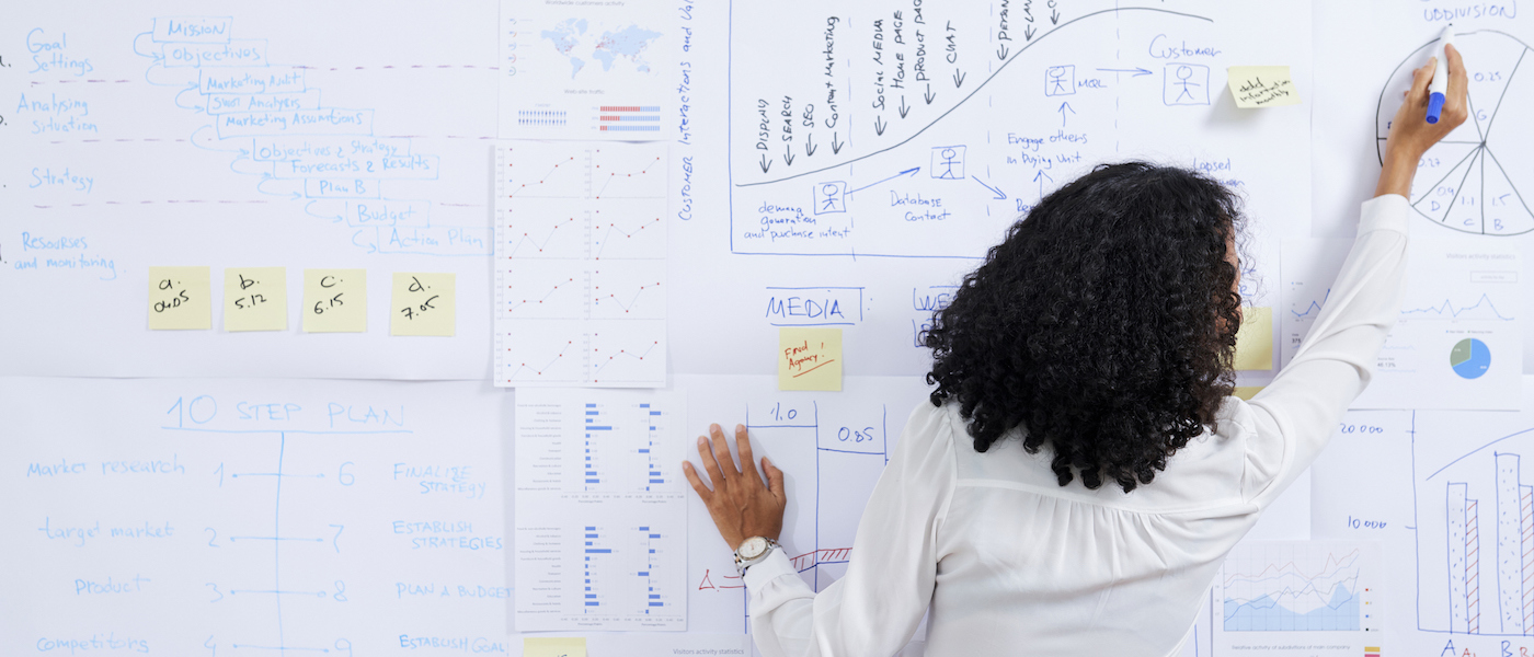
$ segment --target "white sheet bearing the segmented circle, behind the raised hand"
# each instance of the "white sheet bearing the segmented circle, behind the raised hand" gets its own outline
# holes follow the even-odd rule
[[[1470,119],[1428,149],[1411,187],[1414,236],[1471,234],[1482,240],[1534,239],[1534,12],[1522,3],[1316,3],[1316,77],[1312,133],[1316,237],[1353,233],[1358,204],[1379,176],[1390,123],[1411,70],[1434,55],[1454,26],[1470,75]],[[1534,288],[1523,289],[1528,305]],[[1534,334],[1523,335],[1534,371]]]

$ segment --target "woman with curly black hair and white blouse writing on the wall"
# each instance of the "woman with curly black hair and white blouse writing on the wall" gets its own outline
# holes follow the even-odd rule
[[[1250,403],[1232,392],[1241,322],[1236,199],[1146,164],[1098,167],[1043,199],[965,277],[927,335],[931,406],[911,413],[816,594],[776,550],[782,472],[744,427],[684,464],[746,565],[765,655],[888,655],[931,606],[931,655],[1178,654],[1226,553],[1316,458],[1364,391],[1399,309],[1407,199],[1434,63],[1396,113],[1376,198],[1305,343]]]

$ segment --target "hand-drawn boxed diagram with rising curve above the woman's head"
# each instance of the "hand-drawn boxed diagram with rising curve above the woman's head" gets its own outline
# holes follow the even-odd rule
[[[1040,198],[1137,152],[1246,184],[1238,142],[1186,136],[1223,90],[1206,41],[1239,28],[1220,15],[790,6],[732,3],[732,253],[980,257]],[[816,47],[753,57],[764,23]]]

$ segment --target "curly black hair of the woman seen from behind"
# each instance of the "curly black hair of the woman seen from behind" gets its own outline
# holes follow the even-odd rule
[[[1232,394],[1239,198],[1197,172],[1098,165],[1043,198],[965,276],[922,340],[934,406],[974,449],[1008,430],[1054,452],[1060,485],[1124,492],[1213,427]]]

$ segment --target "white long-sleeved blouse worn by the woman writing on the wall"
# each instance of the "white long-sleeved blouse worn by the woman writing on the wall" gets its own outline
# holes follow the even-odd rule
[[[931,606],[930,655],[1170,655],[1226,553],[1316,458],[1401,311],[1407,199],[1364,204],[1358,240],[1295,358],[1230,397],[1155,481],[1060,487],[1049,450],[979,453],[957,406],[919,406],[816,594],[784,550],[746,573],[764,655],[890,655]]]

